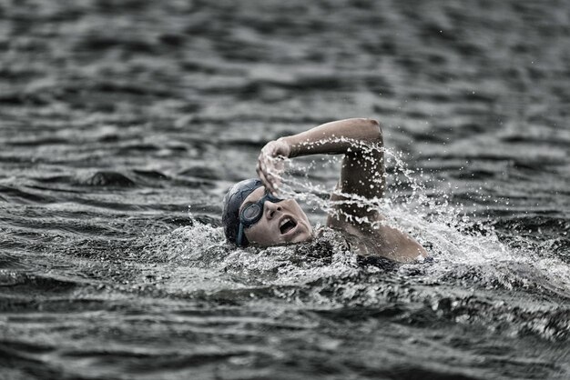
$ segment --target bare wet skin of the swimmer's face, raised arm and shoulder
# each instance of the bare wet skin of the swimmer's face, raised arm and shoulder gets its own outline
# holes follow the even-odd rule
[[[322,154],[344,155],[341,178],[337,185],[341,194],[359,195],[368,199],[382,198],[385,188],[382,147],[380,124],[376,120],[366,118],[337,120],[297,135],[280,137],[261,149],[256,171],[265,188],[256,189],[246,201],[259,200],[265,194],[265,189],[277,195],[280,174],[283,172],[279,157]],[[327,226],[352,236],[359,255],[380,255],[401,263],[410,263],[427,256],[422,245],[410,235],[383,225],[384,216],[380,210],[343,202],[344,195],[335,193],[331,194],[331,200],[339,202],[339,205],[335,206],[338,213],[329,215]],[[244,205],[247,203],[244,202]],[[257,225],[245,230],[249,242],[267,246],[300,243],[310,239],[311,228],[307,216],[294,200],[289,199],[277,204],[266,202],[264,213]],[[291,228],[291,225],[282,225],[283,218],[287,216],[292,218],[294,228]],[[371,228],[369,224],[357,223],[355,217],[381,223],[377,228]]]

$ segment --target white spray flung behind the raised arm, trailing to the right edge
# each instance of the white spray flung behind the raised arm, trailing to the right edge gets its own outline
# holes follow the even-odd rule
[[[541,257],[533,245],[521,244],[521,240],[518,247],[505,244],[492,222],[479,215],[468,215],[462,204],[452,203],[450,183],[436,181],[434,175],[426,175],[422,169],[410,168],[402,152],[379,145],[355,145],[370,165],[375,164],[374,156],[383,155],[390,172],[388,181],[384,183],[384,173],[376,174],[373,181],[387,190],[385,197],[345,194],[331,183],[315,183],[315,173],[339,172],[341,158],[334,155],[312,159],[309,164],[283,160],[284,172],[272,173],[280,179],[281,194],[294,197],[313,210],[337,216],[342,214],[340,205],[378,210],[385,217],[382,221],[349,217],[372,228],[389,225],[414,236],[438,263],[426,273],[431,281],[469,279],[475,285],[506,289],[538,284],[567,294],[570,269],[560,260]],[[332,201],[331,194],[341,200]]]

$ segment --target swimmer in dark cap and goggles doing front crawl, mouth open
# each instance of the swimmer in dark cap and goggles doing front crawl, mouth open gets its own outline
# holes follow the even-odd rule
[[[366,148],[368,145],[377,148]],[[359,255],[377,255],[401,263],[426,257],[425,249],[410,235],[382,224],[384,217],[378,210],[342,202],[349,199],[346,195],[367,199],[384,195],[383,149],[378,149],[382,146],[380,124],[365,118],[334,121],[270,141],[258,159],[259,178],[233,185],[224,197],[222,224],[228,241],[238,246],[310,241],[313,228],[300,205],[295,199],[279,197],[283,169],[279,158],[344,155],[337,184],[340,192],[331,194],[334,208],[327,226],[340,231]],[[362,220],[368,223],[359,223]]]

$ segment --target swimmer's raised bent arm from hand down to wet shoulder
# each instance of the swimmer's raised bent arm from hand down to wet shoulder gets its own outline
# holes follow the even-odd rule
[[[351,201],[384,195],[382,130],[376,120],[339,120],[271,141],[261,149],[257,172],[264,185],[275,193],[280,174],[275,157],[316,154],[344,154],[337,185],[340,192],[331,195],[336,213],[329,214],[327,225],[358,236],[363,255],[382,255],[403,263],[427,255],[411,236],[388,225],[375,224],[383,219],[377,207]],[[364,218],[376,226],[361,223]]]

